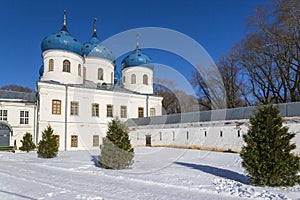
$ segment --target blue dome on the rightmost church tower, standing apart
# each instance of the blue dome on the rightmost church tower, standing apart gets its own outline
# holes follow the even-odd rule
[[[150,69],[153,69],[152,59],[143,53],[139,48],[132,51],[128,56],[122,60],[122,68],[131,67],[131,66],[144,66]]]

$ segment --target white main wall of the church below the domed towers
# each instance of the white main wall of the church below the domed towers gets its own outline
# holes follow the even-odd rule
[[[67,88],[67,107],[66,105],[66,86],[38,82],[39,93],[39,118],[38,118],[38,140],[41,139],[42,131],[51,125],[55,134],[60,135],[60,150],[79,149],[98,149],[93,147],[93,135],[104,137],[107,124],[112,119],[107,117],[107,104],[113,105],[113,116],[120,117],[120,106],[127,106],[127,118],[138,117],[138,107],[144,108],[146,116],[147,95],[139,95],[124,92],[114,92],[100,89],[88,89],[70,87]],[[61,114],[52,114],[52,100],[61,100]],[[79,103],[78,116],[70,115],[70,102]],[[148,97],[148,113],[150,108],[155,108],[156,115],[161,115],[162,97]],[[92,104],[99,104],[99,117],[92,116]],[[65,110],[67,109],[67,110]],[[67,117],[67,135],[65,135],[65,120]],[[121,118],[127,120],[127,118]],[[71,135],[78,135],[78,147],[71,148]],[[65,140],[66,138],[66,140]],[[100,141],[101,142],[101,141]]]

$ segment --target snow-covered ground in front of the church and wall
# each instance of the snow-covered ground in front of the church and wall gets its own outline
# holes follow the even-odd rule
[[[0,152],[0,199],[300,199],[300,186],[249,185],[238,154],[136,148],[131,169],[97,166],[98,151]]]

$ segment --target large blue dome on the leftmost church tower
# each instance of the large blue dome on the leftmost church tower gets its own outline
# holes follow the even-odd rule
[[[65,26],[63,26],[60,32],[45,37],[42,41],[41,48],[42,51],[60,49],[83,56],[82,44],[70,35]]]

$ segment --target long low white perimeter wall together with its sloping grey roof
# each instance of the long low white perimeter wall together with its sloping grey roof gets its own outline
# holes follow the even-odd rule
[[[283,125],[296,134],[292,143],[300,155],[300,102],[277,104]],[[243,135],[256,107],[220,109],[128,119],[134,146],[169,146],[215,151],[241,151]]]

